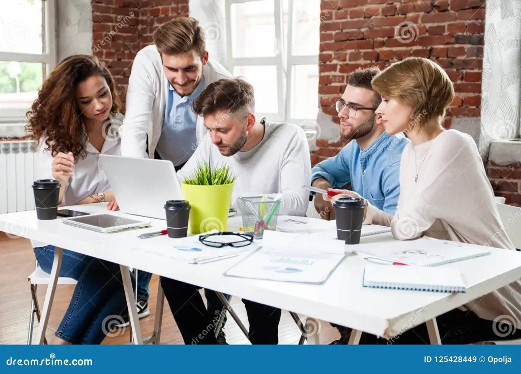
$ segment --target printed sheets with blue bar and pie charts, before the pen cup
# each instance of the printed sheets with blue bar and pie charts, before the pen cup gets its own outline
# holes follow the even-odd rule
[[[303,239],[298,244],[294,242],[297,237]],[[226,271],[225,275],[322,284],[345,257],[345,243],[319,237],[320,246],[317,247],[316,240],[308,234],[265,231],[262,248]]]

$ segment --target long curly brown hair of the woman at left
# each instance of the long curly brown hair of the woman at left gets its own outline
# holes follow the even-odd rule
[[[110,113],[119,112],[121,103],[108,69],[94,56],[73,55],[51,71],[26,113],[26,130],[32,131],[38,142],[46,138],[45,150],[50,149],[53,157],[59,152],[72,152],[77,159],[86,157],[86,133],[76,103],[76,87],[93,75],[105,78],[113,100]]]

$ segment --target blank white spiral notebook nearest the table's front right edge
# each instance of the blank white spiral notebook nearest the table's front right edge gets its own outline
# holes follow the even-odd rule
[[[363,286],[441,293],[466,292],[465,282],[457,269],[373,263],[367,264],[364,270]]]

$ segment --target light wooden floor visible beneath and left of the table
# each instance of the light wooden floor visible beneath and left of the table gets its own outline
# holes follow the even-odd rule
[[[0,344],[27,344],[31,294],[27,276],[34,270],[34,253],[29,240],[23,238],[9,238],[0,232]],[[148,302],[151,315],[140,320],[144,337],[150,336],[154,327],[154,311],[157,293],[158,278],[153,276],[150,283],[151,297]],[[46,336],[50,340],[54,331],[61,322],[74,290],[73,285],[57,286],[51,317]],[[43,303],[46,286],[38,288],[38,299]],[[247,327],[246,311],[238,297],[232,298],[232,307]],[[33,341],[36,339],[38,322],[34,323]],[[250,344],[242,334],[238,325],[228,315],[226,336],[229,344]],[[123,328],[113,332],[114,336],[107,337],[103,344],[127,344],[130,341],[130,329]],[[295,322],[287,311],[282,312],[279,324],[279,343],[297,344],[300,333]],[[328,344],[338,339],[336,329],[327,322],[320,321],[320,342]],[[168,303],[165,302],[163,314],[163,329],[161,344],[183,344],[181,335],[173,320]]]

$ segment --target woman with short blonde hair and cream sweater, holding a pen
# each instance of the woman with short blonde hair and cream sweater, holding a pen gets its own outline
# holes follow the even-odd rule
[[[445,71],[426,58],[407,58],[381,71],[372,81],[382,96],[376,113],[389,135],[405,132],[400,167],[400,198],[394,215],[366,201],[364,224],[390,226],[396,239],[420,236],[515,250],[504,233],[492,187],[476,143],[467,134],[442,127],[454,88]],[[341,196],[357,196],[352,191]],[[327,195],[324,198],[329,199]],[[498,236],[499,235],[499,236]],[[499,340],[494,331],[521,330],[521,282],[516,281],[437,318],[444,344]],[[495,326],[494,326],[495,324]],[[510,327],[510,331],[512,328]],[[514,339],[508,335],[504,339]],[[398,344],[427,343],[426,325],[404,333]],[[365,343],[388,343],[366,335]]]

